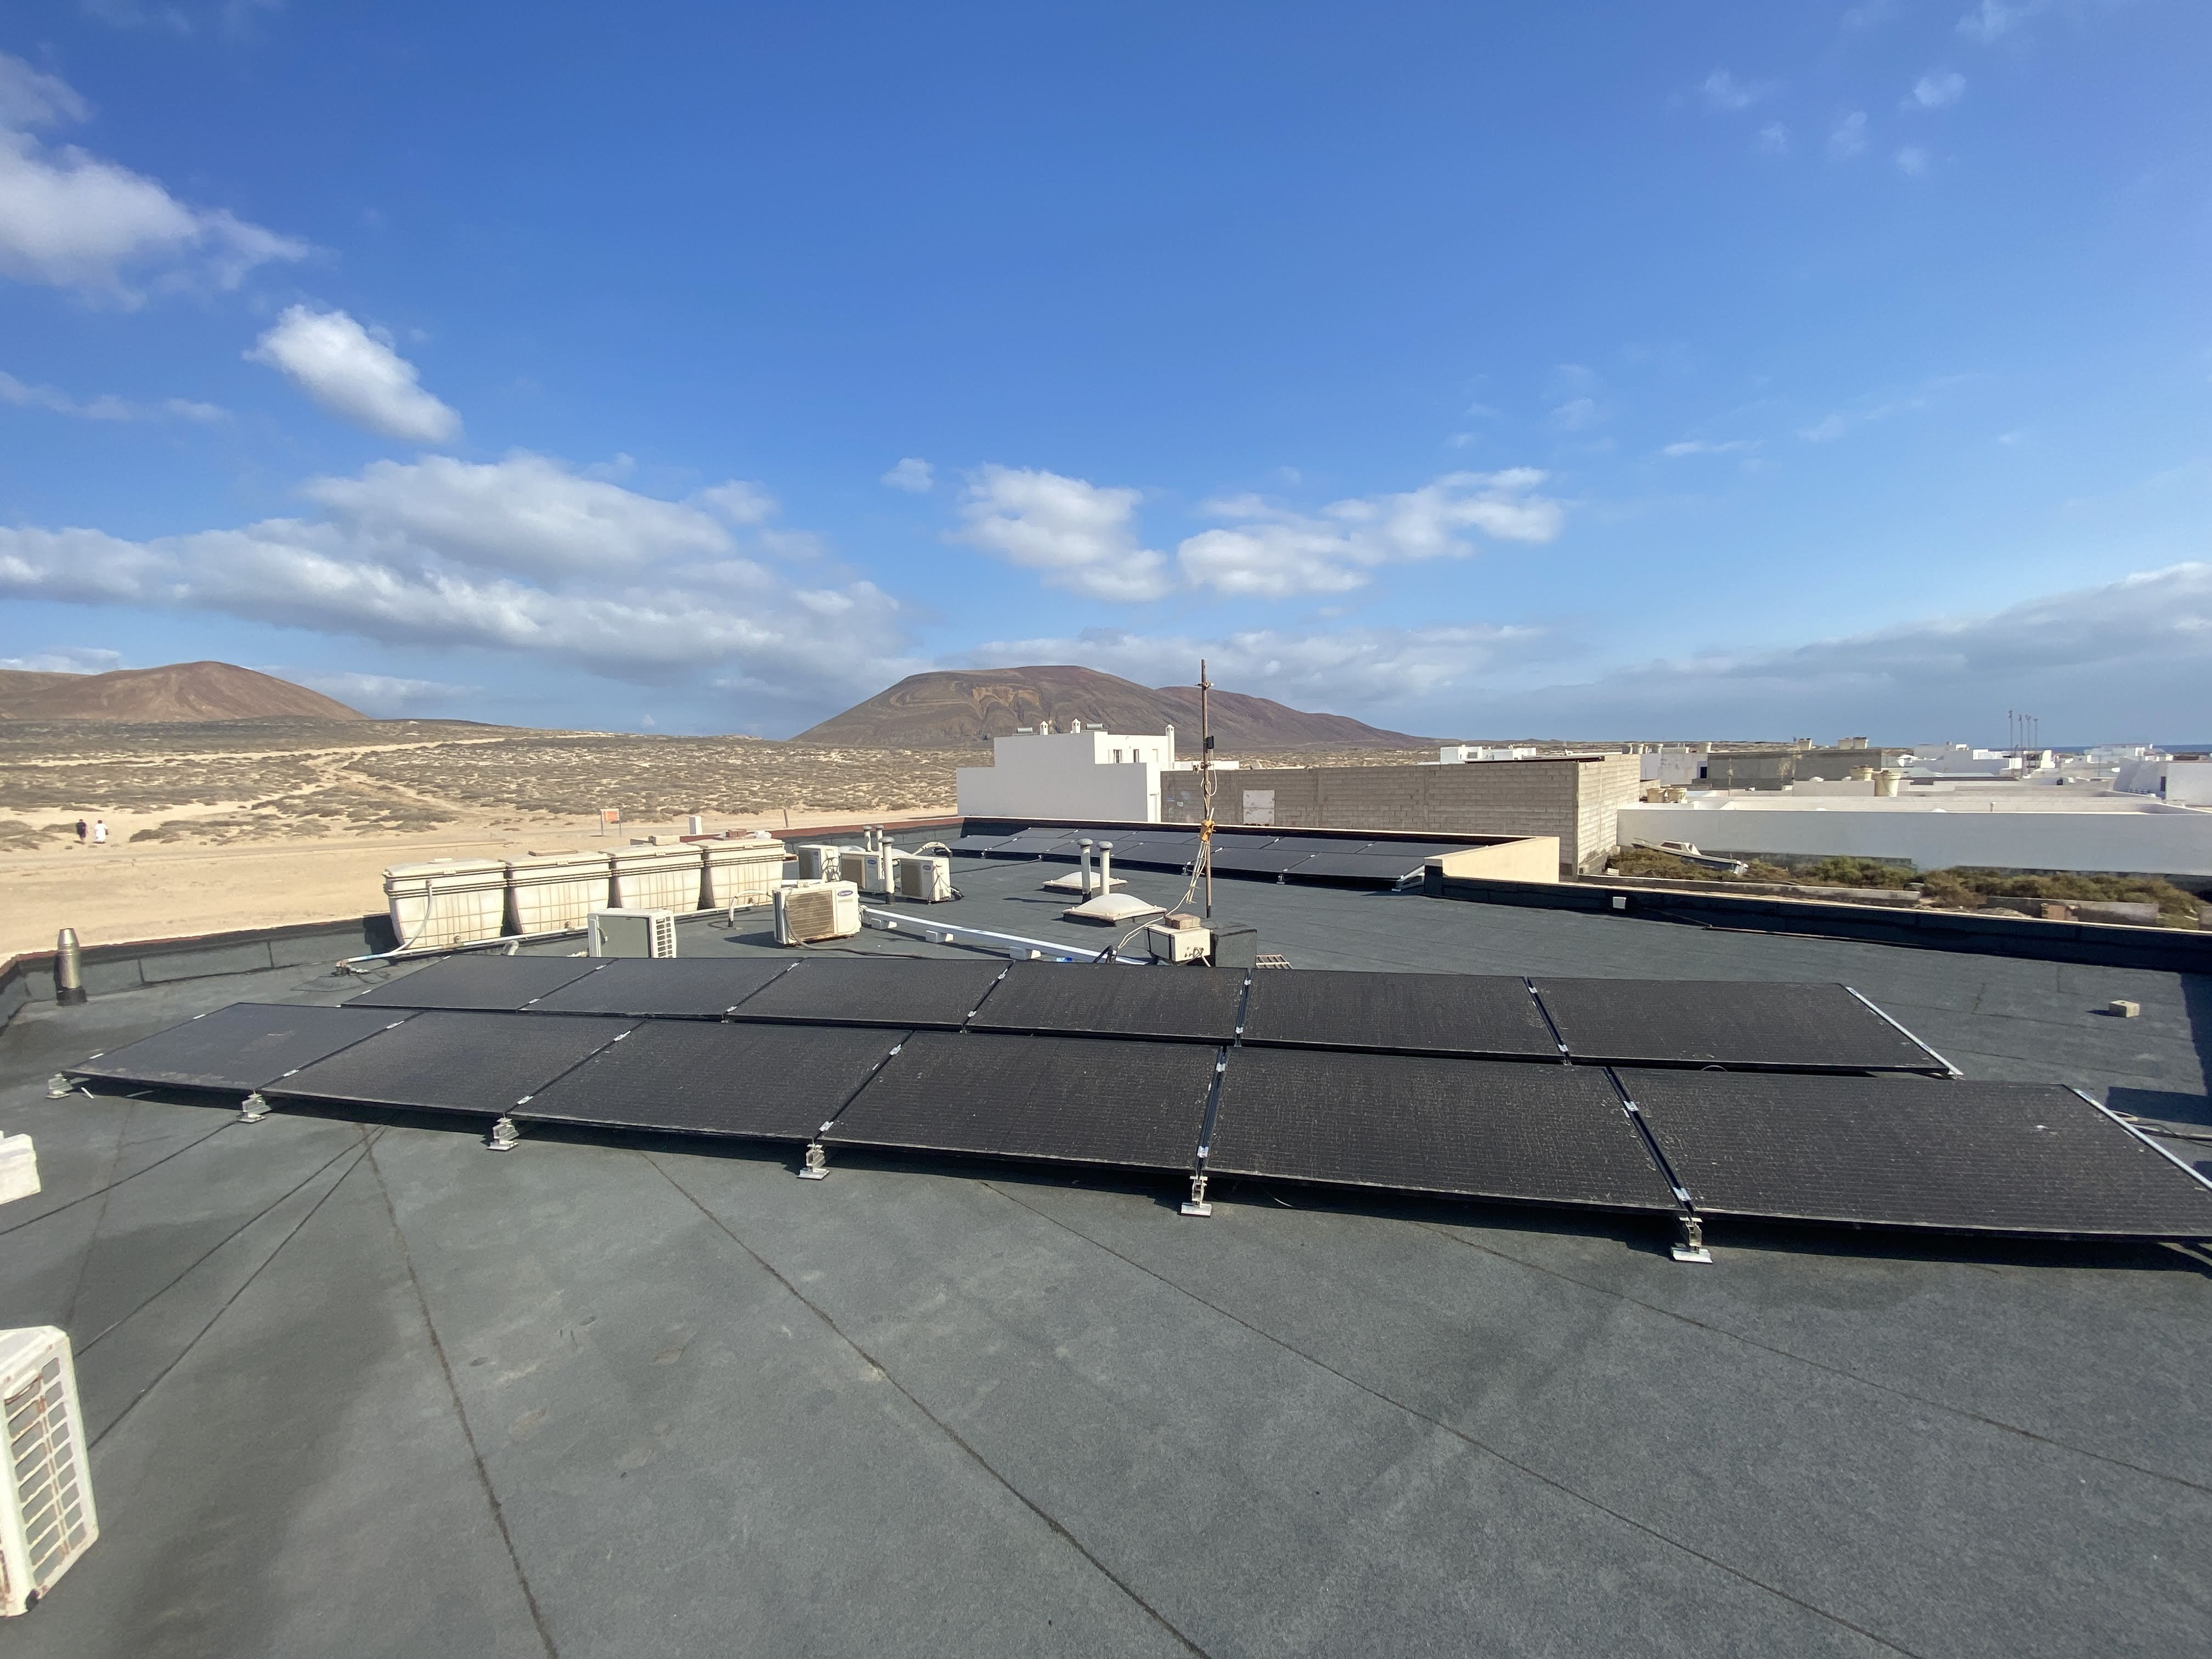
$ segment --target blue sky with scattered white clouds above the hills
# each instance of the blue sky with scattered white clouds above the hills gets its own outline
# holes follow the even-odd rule
[[[15,4],[0,659],[2212,737],[2212,7]]]

